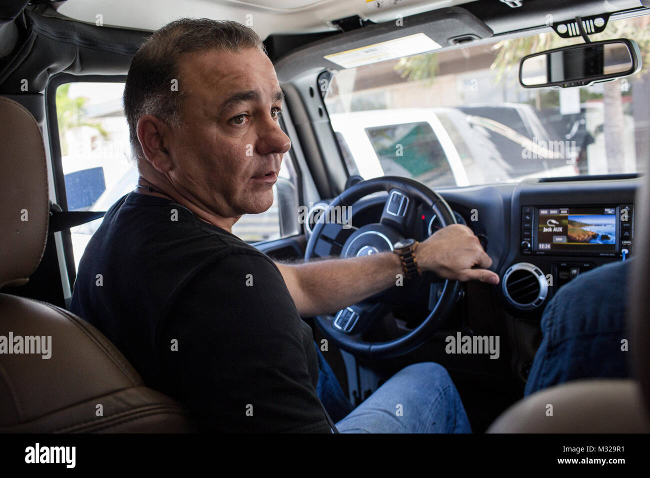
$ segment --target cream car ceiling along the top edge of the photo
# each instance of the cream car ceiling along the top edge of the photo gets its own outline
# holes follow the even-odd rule
[[[265,39],[271,34],[337,31],[332,22],[350,16],[383,23],[397,16],[459,5],[499,34],[544,25],[549,12],[556,20],[568,20],[577,15],[647,7],[650,0],[66,0],[52,5],[75,20],[94,24],[101,14],[104,25],[149,31],[181,17],[235,20]]]

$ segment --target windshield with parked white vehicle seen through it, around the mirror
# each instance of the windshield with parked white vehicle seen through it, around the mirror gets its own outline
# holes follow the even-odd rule
[[[337,72],[325,103],[350,174],[430,187],[645,172],[650,16],[591,40],[630,38],[640,72],[582,88],[523,88],[519,60],[583,42],[549,33]]]

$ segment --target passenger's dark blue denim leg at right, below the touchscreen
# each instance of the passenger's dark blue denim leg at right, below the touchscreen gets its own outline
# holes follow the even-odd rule
[[[577,378],[630,377],[621,350],[627,313],[630,262],[580,274],[551,299],[541,318],[543,339],[524,395]]]

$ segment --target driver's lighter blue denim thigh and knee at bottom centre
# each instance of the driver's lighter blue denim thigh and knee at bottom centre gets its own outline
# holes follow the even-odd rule
[[[454,382],[433,362],[400,370],[336,427],[341,433],[472,431]]]

